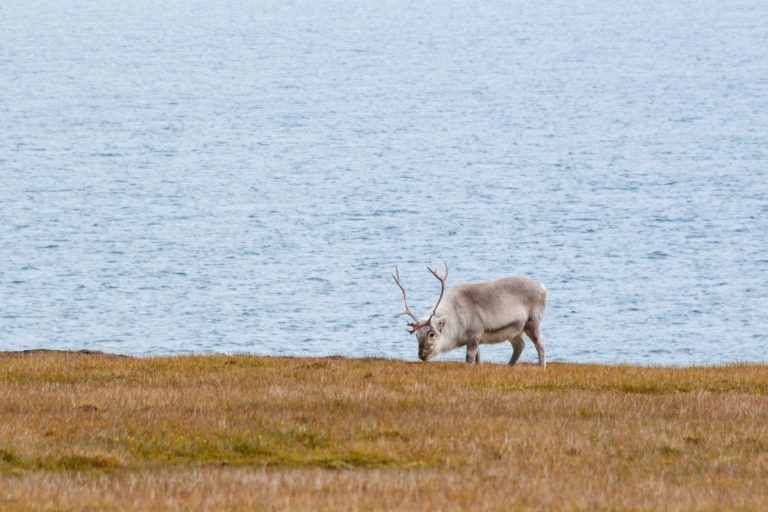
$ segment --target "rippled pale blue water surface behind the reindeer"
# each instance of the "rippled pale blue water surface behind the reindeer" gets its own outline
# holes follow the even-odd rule
[[[4,1],[0,350],[766,362],[767,107],[761,0]]]

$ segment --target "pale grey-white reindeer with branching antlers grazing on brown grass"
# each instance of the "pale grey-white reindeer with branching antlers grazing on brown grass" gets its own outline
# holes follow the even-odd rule
[[[445,275],[440,277],[431,268],[427,270],[440,281],[440,297],[428,317],[423,320],[411,311],[400,271],[395,267],[392,277],[403,292],[405,311],[413,322],[408,322],[409,333],[419,340],[419,359],[426,362],[437,354],[457,347],[467,347],[467,363],[480,364],[480,344],[512,343],[510,366],[517,363],[523,353],[525,333],[539,354],[539,366],[545,368],[544,338],[541,318],[547,303],[547,289],[540,282],[526,277],[505,277],[496,281],[467,283],[448,291],[445,302]]]

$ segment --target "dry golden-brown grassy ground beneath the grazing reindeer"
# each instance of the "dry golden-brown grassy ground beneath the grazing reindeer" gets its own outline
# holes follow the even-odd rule
[[[0,509],[768,510],[768,367],[0,356]]]

